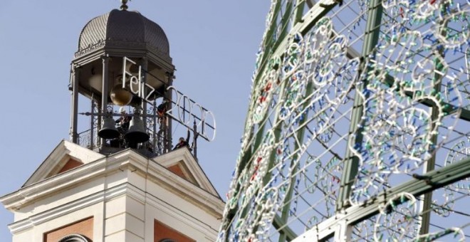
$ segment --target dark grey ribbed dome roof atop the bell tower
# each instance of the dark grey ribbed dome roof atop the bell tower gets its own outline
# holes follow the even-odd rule
[[[90,20],[80,33],[77,53],[108,46],[108,43],[157,48],[169,56],[169,43],[163,29],[137,11],[113,9]]]

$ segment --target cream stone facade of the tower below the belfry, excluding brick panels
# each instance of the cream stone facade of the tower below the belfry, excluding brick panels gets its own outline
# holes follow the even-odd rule
[[[83,165],[54,174],[66,158]],[[188,178],[167,169],[173,165]],[[194,241],[215,241],[224,209],[187,149],[154,159],[132,149],[105,157],[67,141],[0,201],[15,215],[9,225],[13,242],[43,242],[48,231],[90,217],[93,242],[153,242],[155,219]]]

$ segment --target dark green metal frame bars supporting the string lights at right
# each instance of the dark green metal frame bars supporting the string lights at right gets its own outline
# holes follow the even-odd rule
[[[327,15],[330,11],[332,11],[332,9],[342,3],[342,1],[322,0],[311,6],[310,1],[291,0],[285,1],[286,5],[282,6],[281,2],[282,1],[273,1],[274,14],[272,16],[271,22],[269,23],[266,36],[262,43],[263,53],[261,53],[261,56],[258,59],[257,73],[254,77],[255,88],[251,90],[251,97],[256,97],[256,92],[258,91],[256,90],[256,87],[258,87],[260,81],[263,80],[265,75],[267,75],[266,70],[268,70],[268,68],[272,68],[269,61],[277,58],[282,59],[284,57],[283,55],[286,53],[286,48],[288,48],[294,35],[300,33],[302,36],[305,36],[305,34],[307,34],[308,31],[310,31],[310,29],[312,29],[323,16]],[[362,73],[363,71],[372,71],[372,68],[367,67],[365,62],[366,60],[371,60],[375,56],[375,51],[377,49],[377,44],[379,42],[381,33],[382,17],[384,14],[382,1],[370,0],[367,2],[369,3],[369,6],[367,7],[367,23],[365,26],[365,34],[363,36],[362,51],[360,54],[352,48],[348,48],[347,51],[348,58],[360,58],[361,65],[359,73]],[[309,9],[305,14],[303,14],[303,8],[305,6],[308,6]],[[278,14],[281,14],[281,8],[284,8],[285,11],[283,12],[282,16],[278,16]],[[276,22],[276,19],[280,19],[280,21]],[[291,29],[288,30],[287,26],[290,23]],[[276,30],[278,29],[281,29],[281,31],[278,31],[277,38],[274,38],[276,35]],[[442,53],[442,55],[444,55],[444,53]],[[435,63],[435,65],[439,66],[439,63]],[[365,70],[365,68],[368,68],[368,70]],[[360,75],[358,76],[360,77]],[[279,87],[280,92],[278,93],[279,97],[283,97],[283,95],[286,93],[288,78],[290,77],[284,76],[283,80],[281,80]],[[436,80],[439,80],[439,78],[442,77],[436,74],[435,78]],[[335,238],[347,240],[349,238],[347,236],[351,235],[352,226],[355,226],[356,223],[364,221],[365,219],[378,214],[380,211],[380,206],[387,203],[391,197],[398,196],[403,192],[412,194],[413,196],[424,195],[424,205],[422,211],[429,211],[432,201],[432,191],[452,184],[455,181],[470,177],[470,159],[463,159],[460,162],[442,167],[439,170],[434,170],[436,159],[434,154],[434,157],[429,159],[424,165],[425,168],[423,175],[414,174],[414,179],[407,181],[399,186],[386,189],[382,193],[367,201],[367,204],[363,204],[363,206],[353,206],[350,204],[352,184],[355,182],[355,177],[357,176],[359,168],[359,158],[355,156],[354,152],[352,152],[351,147],[353,144],[362,143],[363,139],[362,126],[364,125],[364,121],[362,120],[362,115],[365,109],[365,103],[362,96],[362,91],[367,85],[367,80],[360,80],[360,83],[360,85],[355,85],[356,90],[355,98],[352,104],[350,118],[351,121],[348,132],[348,144],[343,162],[343,174],[340,179],[338,199],[336,200],[335,216],[332,216],[330,219],[316,224],[313,226],[313,228],[310,228],[309,231],[301,235],[296,234],[294,229],[288,225],[289,209],[291,209],[294,192],[293,184],[296,179],[296,177],[291,177],[290,185],[287,187],[285,196],[283,197],[284,202],[280,209],[280,214],[276,214],[272,221],[272,226],[276,228],[279,233],[278,241],[323,241],[328,238],[332,238],[333,234],[335,234]],[[392,75],[385,75],[385,83],[387,83],[390,87],[399,88],[399,84],[395,83],[395,78]],[[439,81],[437,81],[437,83],[439,83]],[[305,96],[308,96],[315,91],[315,88],[311,82],[308,83],[305,89]],[[440,91],[440,85],[436,85],[435,90]],[[406,95],[413,97],[415,93],[406,92]],[[251,102],[256,102],[256,100],[253,100],[252,98]],[[437,106],[434,101],[424,99],[419,100],[419,102],[421,102],[422,105],[427,105],[431,108],[431,119],[436,120],[438,113]],[[454,115],[458,110],[459,118],[461,120],[470,121],[470,110],[459,110],[459,108],[451,105],[450,103],[444,103],[443,106],[445,115]],[[306,110],[307,104],[304,103],[302,107],[303,110]],[[271,111],[273,111],[275,114],[278,114],[280,110],[280,103],[278,103],[275,107],[271,107]],[[254,112],[254,110],[249,110],[246,123],[249,123],[249,118],[251,118],[252,112]],[[254,127],[249,127],[247,129],[251,131],[249,132],[248,138],[251,141],[251,145],[248,149],[242,152],[241,162],[239,162],[238,169],[239,174],[236,174],[235,177],[239,177],[241,175],[240,172],[242,172],[244,168],[251,165],[254,154],[256,154],[258,149],[261,148],[261,144],[266,135],[266,125],[270,115],[272,114],[266,112],[264,117],[261,119],[260,124],[257,125],[257,129]],[[299,123],[295,134],[296,140],[298,140],[300,143],[303,142],[305,128],[308,128],[305,122],[307,122],[307,120],[302,120]],[[281,138],[282,121],[279,120],[278,116],[276,115],[271,125],[275,142],[278,143],[280,142]],[[437,143],[437,135],[432,137],[432,142]],[[296,143],[294,145],[294,150],[298,150],[300,148],[300,144]],[[297,158],[298,154],[295,154],[285,164],[286,167],[290,167],[290,169],[293,171],[293,174],[298,172],[298,167],[295,166]],[[275,165],[276,152],[271,150],[268,154],[268,170],[273,169]],[[271,176],[272,174],[270,172],[266,173],[266,176],[263,177],[263,185],[268,184],[268,182],[271,180]],[[239,188],[240,186],[236,187],[236,189]],[[242,216],[249,212],[249,208],[247,207],[243,208],[241,211],[238,211],[238,209],[240,208],[237,206],[235,209],[231,209],[231,211],[229,211],[227,216],[229,221],[234,219],[234,216],[237,212],[241,213]],[[420,216],[422,216],[423,223],[423,226],[420,227],[420,234],[429,233],[429,227],[427,227],[429,226],[429,216],[425,212],[420,214]]]

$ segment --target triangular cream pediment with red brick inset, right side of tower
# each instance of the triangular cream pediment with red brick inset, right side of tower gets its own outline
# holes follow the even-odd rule
[[[216,197],[220,197],[201,166],[199,166],[199,163],[194,159],[191,152],[189,152],[189,149],[176,149],[172,152],[155,157],[153,160],[169,169],[169,171],[177,176],[186,179]]]

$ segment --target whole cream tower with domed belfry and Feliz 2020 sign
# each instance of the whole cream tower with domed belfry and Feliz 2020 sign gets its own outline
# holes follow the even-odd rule
[[[70,141],[0,197],[14,242],[216,240],[224,202],[196,157],[215,120],[174,87],[169,53],[163,29],[127,1],[85,24]],[[187,128],[177,149],[172,122]]]

